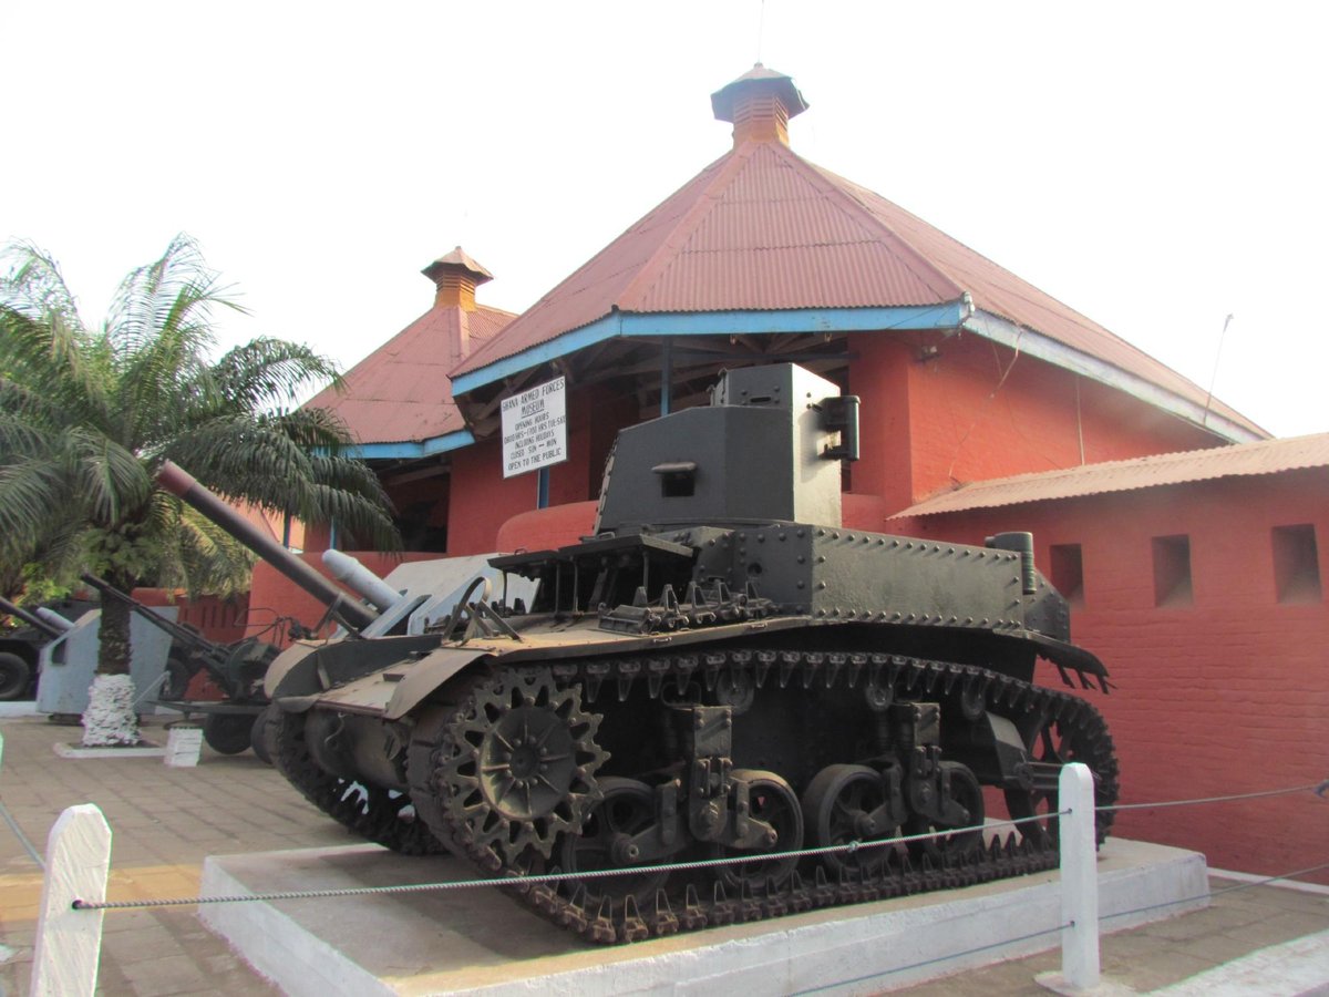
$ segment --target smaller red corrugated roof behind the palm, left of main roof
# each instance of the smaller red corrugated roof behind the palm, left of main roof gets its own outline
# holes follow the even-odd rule
[[[513,320],[498,308],[433,307],[306,403],[336,412],[358,443],[417,443],[465,428],[448,371]],[[466,334],[465,336],[462,334]]]

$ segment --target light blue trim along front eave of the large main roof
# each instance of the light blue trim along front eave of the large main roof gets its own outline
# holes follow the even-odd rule
[[[957,328],[970,314],[965,299],[942,304],[885,308],[784,308],[776,311],[615,311],[561,336],[494,360],[452,382],[453,397],[606,339],[633,336],[731,336],[743,332],[878,332],[904,328]]]

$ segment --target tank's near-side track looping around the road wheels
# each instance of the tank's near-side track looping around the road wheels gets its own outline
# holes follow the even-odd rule
[[[617,689],[619,697],[626,698],[627,689],[638,678],[650,683],[653,699],[674,681],[686,685],[700,679],[711,690],[727,669],[752,671],[758,690],[767,682],[779,682],[781,687],[791,682],[800,682],[804,687],[824,683],[828,689],[837,682],[847,682],[852,689],[857,682],[868,679],[878,683],[878,687],[889,687],[896,698],[961,695],[970,707],[979,702],[986,709],[1011,718],[1017,726],[1025,719],[1030,722],[1026,726],[1033,724],[1031,730],[1055,728],[1058,743],[1071,744],[1073,759],[1066,760],[1084,762],[1094,772],[1096,804],[1110,806],[1116,800],[1118,762],[1107,724],[1092,705],[1059,690],[1034,686],[975,666],[886,654],[748,650],[708,650],[695,655],[650,655],[553,666],[560,682],[581,685],[586,690],[589,707],[594,707],[597,698],[605,691]],[[1055,822],[1049,822],[1053,826],[1049,832],[1041,831],[1045,824],[1039,822],[1037,826],[1022,826],[1023,833],[997,835],[986,849],[974,849],[968,855],[944,853],[938,859],[928,852],[912,855],[905,849],[886,849],[890,852],[888,859],[868,871],[841,867],[839,872],[831,872],[821,863],[805,859],[781,887],[772,883],[759,893],[752,892],[747,880],[740,880],[742,885],[734,888],[726,887],[719,877],[699,880],[692,876],[686,884],[657,891],[654,903],[638,904],[631,896],[617,903],[594,897],[583,884],[577,883],[525,883],[525,875],[557,872],[558,868],[538,855],[526,856],[518,868],[504,861],[489,845],[478,844],[468,826],[449,814],[437,780],[439,767],[447,763],[449,754],[455,754],[447,744],[448,723],[459,709],[465,709],[470,690],[490,678],[490,674],[481,671],[464,687],[449,690],[449,703],[437,705],[420,718],[407,766],[412,802],[417,814],[449,851],[489,876],[513,877],[512,887],[505,887],[505,892],[589,942],[642,941],[815,908],[954,889],[1041,872],[1058,864]],[[602,691],[606,682],[609,686]],[[1035,739],[1037,736],[1038,734],[1034,735]],[[1038,810],[1035,803],[1026,803],[1030,810]],[[1098,814],[1099,843],[1106,839],[1111,823],[1111,812]],[[642,909],[643,907],[649,909]]]

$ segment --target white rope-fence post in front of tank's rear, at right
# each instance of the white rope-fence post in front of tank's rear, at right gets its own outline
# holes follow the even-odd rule
[[[1094,776],[1073,762],[1058,780],[1062,845],[1062,980],[1074,990],[1099,984]]]

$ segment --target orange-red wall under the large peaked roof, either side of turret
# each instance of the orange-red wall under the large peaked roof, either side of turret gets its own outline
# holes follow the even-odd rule
[[[968,481],[1216,443],[1120,391],[978,336],[937,339],[929,360],[920,359],[924,344],[880,332],[849,338],[847,388],[863,408],[845,525],[886,529],[886,516]],[[550,505],[598,496],[614,433],[635,415],[630,396],[599,386],[570,391],[571,459],[552,469]],[[494,443],[455,456],[453,481],[469,501],[453,500],[451,553],[577,541],[574,524],[585,517],[536,512],[534,485],[514,492],[524,479],[501,483],[498,467]]]

